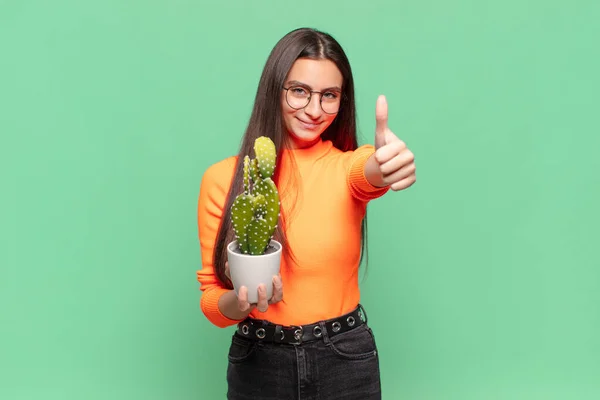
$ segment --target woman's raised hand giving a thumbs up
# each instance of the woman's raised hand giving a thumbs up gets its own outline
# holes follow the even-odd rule
[[[406,189],[417,180],[415,158],[388,127],[388,107],[384,96],[377,99],[375,119],[375,162],[370,164],[371,170],[377,169],[377,173],[371,171],[370,176],[376,186],[389,185],[395,191]]]

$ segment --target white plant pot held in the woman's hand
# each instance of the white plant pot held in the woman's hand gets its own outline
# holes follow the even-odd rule
[[[240,253],[237,241],[227,246],[227,261],[229,274],[236,294],[240,287],[248,288],[248,302],[258,302],[258,286],[262,283],[267,289],[267,299],[273,296],[273,276],[279,274],[281,265],[281,243],[271,240],[270,246],[275,251],[263,255],[250,255]]]

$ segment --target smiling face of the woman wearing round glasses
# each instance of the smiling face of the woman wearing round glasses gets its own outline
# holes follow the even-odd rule
[[[320,140],[337,115],[323,110],[321,96],[325,110],[335,110],[341,100],[342,82],[342,73],[330,60],[296,60],[284,82],[284,87],[294,89],[282,90],[281,94],[283,119],[293,148],[309,147]],[[321,93],[311,95],[311,90]],[[295,109],[288,103],[298,108],[309,96],[310,102],[304,108]]]

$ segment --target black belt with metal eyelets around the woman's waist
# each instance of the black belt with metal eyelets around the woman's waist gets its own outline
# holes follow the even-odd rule
[[[366,322],[367,315],[359,304],[348,314],[307,325],[284,326],[265,320],[246,318],[238,324],[237,334],[264,342],[300,344],[323,339],[324,331],[328,337],[331,337],[357,328]]]

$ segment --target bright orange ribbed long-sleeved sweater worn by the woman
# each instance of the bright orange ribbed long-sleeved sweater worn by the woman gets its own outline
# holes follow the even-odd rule
[[[278,188],[287,218],[286,234],[297,260],[282,257],[283,300],[269,305],[264,313],[254,309],[251,317],[300,325],[333,318],[357,306],[361,222],[368,201],[389,190],[372,186],[364,176],[365,162],[374,151],[373,146],[364,145],[342,152],[330,141],[284,151]],[[300,174],[295,181],[286,179],[292,155]],[[219,297],[227,289],[219,284],[212,262],[236,159],[229,157],[206,170],[198,201],[200,307],[219,327],[239,322],[219,310]]]

